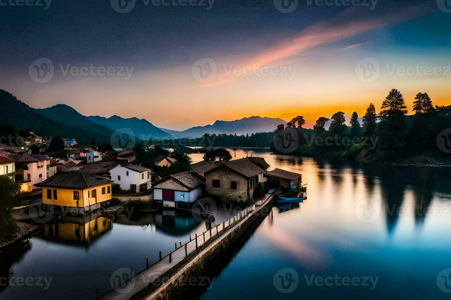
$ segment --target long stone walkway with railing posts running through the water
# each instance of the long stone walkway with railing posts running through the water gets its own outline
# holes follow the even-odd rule
[[[102,300],[117,299],[174,299],[180,298],[187,288],[187,279],[202,276],[202,272],[214,260],[220,259],[227,248],[251,225],[258,225],[268,215],[276,199],[276,189],[266,193],[259,204],[254,204],[238,215],[212,227],[185,244],[175,245],[177,249],[160,261],[133,276],[119,272],[115,289],[102,296]],[[256,226],[253,226],[256,228]],[[125,269],[125,268],[124,268]],[[119,282],[121,278],[126,282]],[[112,276],[115,281],[115,274]],[[184,282],[185,284],[180,284]]]

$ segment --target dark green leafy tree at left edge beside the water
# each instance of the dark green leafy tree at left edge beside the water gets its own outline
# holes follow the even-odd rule
[[[20,183],[8,175],[0,175],[0,240],[8,240],[16,231],[17,224],[11,212],[19,198]]]

